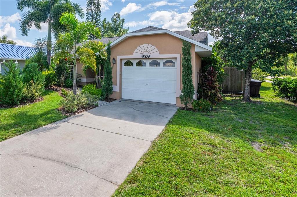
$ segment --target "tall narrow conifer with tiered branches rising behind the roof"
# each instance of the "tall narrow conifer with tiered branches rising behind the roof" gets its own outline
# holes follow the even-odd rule
[[[87,0],[86,21],[92,23],[95,27],[101,26],[101,3],[100,0]],[[96,39],[93,34],[89,35],[89,39]]]

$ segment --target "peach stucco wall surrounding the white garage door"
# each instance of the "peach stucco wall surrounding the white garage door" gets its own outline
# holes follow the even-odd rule
[[[147,36],[134,36],[129,37],[125,39],[124,41],[120,42],[119,44],[115,45],[111,48],[111,56],[110,61],[115,58],[117,59],[118,55],[133,55],[134,50],[142,45],[142,44],[151,44],[154,45],[160,54],[181,54],[181,60],[182,60],[182,51],[181,47],[183,46],[182,40],[171,36],[169,34],[156,34],[156,35],[147,35]],[[191,53],[192,53],[192,66],[193,66],[193,85],[195,87],[195,92],[197,91],[197,72],[199,71],[201,67],[201,58],[198,54],[195,53],[195,45],[192,44],[191,47]],[[116,63],[117,64],[117,63]],[[113,76],[113,85],[117,84],[117,66],[112,66],[112,76]],[[121,65],[121,62],[120,62]],[[181,65],[181,62],[180,62]],[[121,66],[120,66],[120,92],[113,92],[113,94],[110,96],[113,99],[121,99]],[[181,66],[181,72],[180,76],[182,74],[182,66]],[[180,77],[181,81],[181,77]],[[180,82],[180,88],[182,88],[182,83]],[[178,107],[181,107],[181,103],[179,98],[176,98],[176,105]]]

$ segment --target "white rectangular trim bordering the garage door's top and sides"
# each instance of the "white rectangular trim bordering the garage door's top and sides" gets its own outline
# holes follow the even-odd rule
[[[136,53],[133,55],[118,55],[117,56],[117,65],[116,65],[116,85],[113,85],[113,91],[120,91],[120,68],[121,59],[139,59],[141,58],[140,53]],[[181,54],[154,54],[153,58],[176,58],[176,97],[179,97],[181,94]],[[151,58],[149,58],[151,59]]]

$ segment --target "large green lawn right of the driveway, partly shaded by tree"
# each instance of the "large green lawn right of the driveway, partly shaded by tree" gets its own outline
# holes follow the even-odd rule
[[[178,110],[113,196],[297,196],[297,107],[260,94]]]

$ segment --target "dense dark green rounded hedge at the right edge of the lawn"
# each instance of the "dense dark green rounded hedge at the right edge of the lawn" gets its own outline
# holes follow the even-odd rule
[[[297,78],[274,78],[272,82],[274,93],[279,97],[297,98]]]

